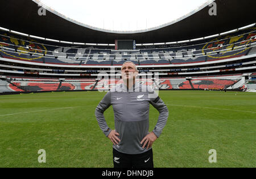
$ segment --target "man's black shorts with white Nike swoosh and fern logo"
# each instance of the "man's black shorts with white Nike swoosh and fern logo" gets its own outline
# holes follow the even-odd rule
[[[154,168],[152,149],[142,154],[123,154],[113,148],[114,168]]]

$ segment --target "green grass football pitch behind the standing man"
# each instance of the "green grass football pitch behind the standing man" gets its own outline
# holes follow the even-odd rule
[[[0,96],[0,167],[113,167],[94,110],[105,92]],[[160,91],[170,111],[155,167],[256,167],[256,93]],[[105,118],[114,129],[112,106]],[[158,120],[150,106],[150,131]],[[39,163],[38,151],[46,151]],[[209,163],[209,150],[216,163]]]

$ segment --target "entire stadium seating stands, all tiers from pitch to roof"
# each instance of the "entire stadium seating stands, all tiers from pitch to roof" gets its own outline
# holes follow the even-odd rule
[[[256,71],[255,36],[254,25],[200,40],[115,50],[109,44],[79,45],[2,30],[0,91],[109,90],[121,83],[126,61],[137,65],[141,83],[160,90],[246,88]]]

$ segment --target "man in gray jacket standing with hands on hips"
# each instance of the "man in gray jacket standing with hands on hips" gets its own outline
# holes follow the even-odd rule
[[[114,168],[152,168],[152,144],[162,133],[168,108],[149,86],[135,82],[138,70],[133,62],[121,67],[122,84],[113,87],[98,104],[95,116],[103,133],[113,143]],[[149,129],[150,104],[159,111],[153,131]],[[113,106],[115,130],[108,127],[104,112]]]

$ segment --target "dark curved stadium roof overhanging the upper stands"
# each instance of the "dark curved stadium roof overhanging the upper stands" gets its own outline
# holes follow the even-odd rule
[[[35,2],[34,2],[35,1]],[[209,15],[212,2],[159,27],[142,31],[108,31],[90,27],[46,8],[38,15],[38,0],[2,0],[0,27],[61,41],[114,44],[117,39],[137,44],[173,42],[210,36],[255,23],[255,0],[216,0],[217,15]],[[37,2],[37,3],[36,3]]]

